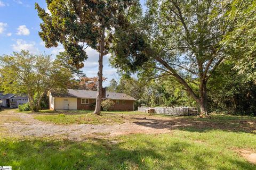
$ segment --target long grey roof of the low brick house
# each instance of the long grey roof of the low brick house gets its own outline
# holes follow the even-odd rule
[[[52,97],[74,97],[95,99],[97,97],[97,91],[67,89],[66,92],[51,91],[51,95]],[[129,95],[121,94],[118,92],[106,92],[106,99],[136,100]]]

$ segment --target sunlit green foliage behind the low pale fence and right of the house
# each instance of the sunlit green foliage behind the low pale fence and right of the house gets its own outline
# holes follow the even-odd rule
[[[191,87],[198,88],[195,84],[191,84]],[[150,79],[143,75],[132,78],[121,74],[116,92],[122,92],[137,99],[135,109],[140,107],[140,104],[150,107],[196,106],[196,102],[172,77]]]

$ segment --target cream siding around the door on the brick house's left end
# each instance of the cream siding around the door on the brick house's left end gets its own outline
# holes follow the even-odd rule
[[[54,109],[63,110],[64,109],[64,99],[68,99],[69,110],[77,110],[77,99],[76,98],[60,98],[55,97]]]

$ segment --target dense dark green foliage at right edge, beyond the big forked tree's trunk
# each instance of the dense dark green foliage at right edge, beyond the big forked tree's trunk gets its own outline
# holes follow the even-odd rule
[[[256,116],[256,84],[247,81],[246,73],[239,73],[235,65],[222,63],[209,80],[210,110]]]

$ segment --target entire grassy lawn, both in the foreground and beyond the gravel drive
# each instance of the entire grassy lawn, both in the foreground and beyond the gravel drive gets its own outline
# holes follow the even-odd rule
[[[51,116],[58,117],[57,120],[64,117],[67,121],[85,115],[93,116],[89,112],[36,116],[47,117],[47,121]],[[100,121],[106,121],[108,116],[135,115],[135,112],[110,112],[103,114]],[[159,124],[172,121],[170,116],[163,115],[147,115],[147,120],[157,117],[163,121]],[[179,117],[174,121],[189,122],[191,126],[166,134],[131,134],[79,142],[61,137],[10,138],[0,133],[0,165],[13,169],[256,169],[255,164],[241,155],[242,150],[256,153],[255,117],[213,115],[211,118]]]

